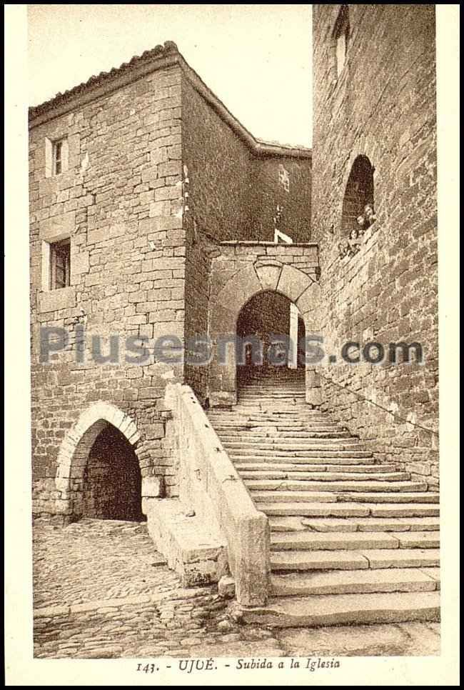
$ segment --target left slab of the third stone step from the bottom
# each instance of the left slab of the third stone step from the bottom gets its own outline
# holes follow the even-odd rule
[[[272,571],[358,570],[368,567],[368,559],[359,551],[271,551]]]

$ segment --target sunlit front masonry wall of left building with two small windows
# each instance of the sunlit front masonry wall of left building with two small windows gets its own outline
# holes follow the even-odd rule
[[[181,210],[181,71],[163,69],[30,130],[31,327],[34,514],[54,512],[56,457],[66,431],[94,401],[136,419],[143,476],[176,494],[158,401],[181,364],[151,355],[124,361],[134,344],[183,338],[185,247]],[[46,138],[67,136],[69,170],[46,177]],[[47,244],[71,237],[71,286],[43,284]],[[40,359],[40,329],[64,329],[66,349]],[[86,332],[84,362],[76,332]],[[91,336],[119,336],[117,363],[96,364]],[[137,356],[137,353],[129,353]],[[139,449],[140,450],[140,449]]]

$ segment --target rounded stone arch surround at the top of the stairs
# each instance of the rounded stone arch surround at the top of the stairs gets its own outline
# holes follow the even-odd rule
[[[306,335],[320,331],[317,320],[321,300],[321,288],[311,276],[296,266],[283,264],[274,259],[263,259],[248,264],[237,271],[222,289],[210,307],[210,336],[215,354],[210,368],[210,404],[228,406],[236,404],[236,356],[235,349],[228,350],[227,362],[218,361],[218,339],[226,336],[231,341],[236,334],[238,315],[243,306],[256,294],[276,291],[296,304],[303,318]],[[316,391],[317,389],[317,391]],[[320,404],[318,376],[311,366],[306,367],[306,401]]]

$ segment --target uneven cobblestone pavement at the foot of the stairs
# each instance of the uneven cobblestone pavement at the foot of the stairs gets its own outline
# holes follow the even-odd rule
[[[265,629],[237,624],[216,587],[184,589],[146,525],[34,526],[36,657],[439,654],[438,624]]]

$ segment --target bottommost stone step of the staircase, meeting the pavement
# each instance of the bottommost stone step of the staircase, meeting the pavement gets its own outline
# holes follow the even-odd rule
[[[259,609],[242,611],[243,623],[280,628],[439,619],[438,591],[278,597]]]

